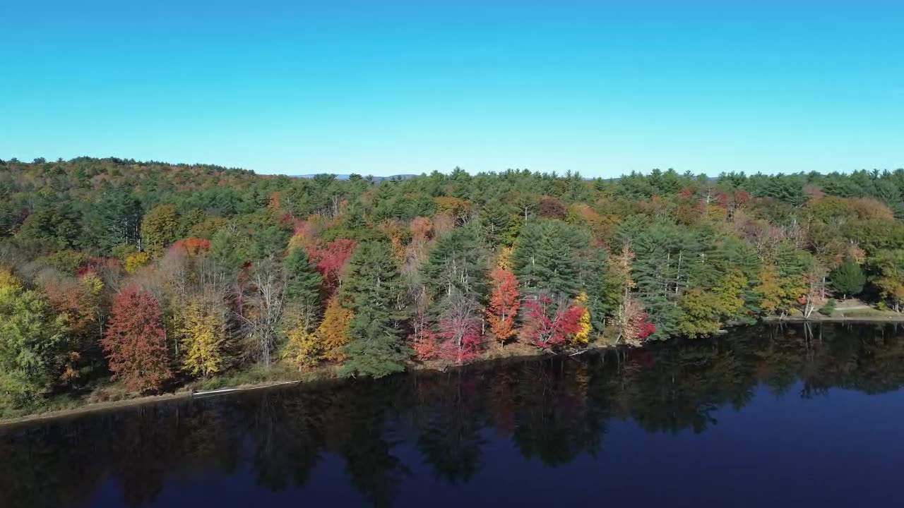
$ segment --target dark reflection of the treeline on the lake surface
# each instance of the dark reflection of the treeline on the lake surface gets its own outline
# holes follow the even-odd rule
[[[615,425],[705,434],[720,410],[757,397],[902,383],[894,325],[761,325],[618,354],[173,402],[0,431],[0,506],[182,505],[168,494],[210,477],[296,504],[328,481],[353,493],[346,503],[390,506],[414,478],[465,488],[513,460],[547,471],[594,464]],[[320,467],[342,474],[312,482]]]

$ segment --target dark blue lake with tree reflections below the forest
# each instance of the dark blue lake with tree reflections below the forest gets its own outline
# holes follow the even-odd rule
[[[895,506],[904,332],[757,327],[0,430],[0,506]]]

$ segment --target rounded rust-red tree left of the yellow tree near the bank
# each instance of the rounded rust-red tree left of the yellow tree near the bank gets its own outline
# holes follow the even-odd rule
[[[167,359],[160,306],[153,296],[128,287],[113,300],[113,311],[100,340],[113,381],[128,390],[155,390],[172,377]]]

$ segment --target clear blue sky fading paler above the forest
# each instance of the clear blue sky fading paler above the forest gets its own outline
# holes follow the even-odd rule
[[[0,158],[904,166],[904,2],[9,2]]]

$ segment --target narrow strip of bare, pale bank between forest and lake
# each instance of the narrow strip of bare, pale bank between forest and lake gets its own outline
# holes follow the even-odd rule
[[[802,323],[862,323],[862,324],[870,324],[870,323],[885,323],[885,324],[893,324],[900,323],[904,324],[904,313],[899,315],[875,315],[875,316],[810,316],[806,318],[801,315],[792,315],[792,316],[769,316],[765,317],[758,321],[760,324],[767,325],[777,325],[782,323],[789,324],[802,324]],[[732,328],[734,326],[726,326],[726,328]],[[720,332],[723,334],[724,332]],[[525,349],[525,348],[517,348],[515,349],[513,346],[508,346],[511,353],[505,353],[505,349],[494,350],[493,353],[490,353],[486,358],[482,358],[477,360],[476,362],[467,363],[465,365],[442,365],[438,362],[427,362],[427,363],[418,363],[418,364],[410,364],[406,372],[420,372],[420,371],[435,371],[435,372],[447,372],[449,370],[461,369],[465,368],[469,365],[474,365],[478,363],[493,363],[493,362],[513,362],[518,360],[527,360],[530,358],[538,358],[542,356],[549,357],[567,357],[567,356],[576,356],[583,353],[596,352],[601,350],[613,349],[616,346],[610,344],[599,344],[589,346],[585,349],[579,350],[577,352],[563,352],[563,353],[549,353],[545,351],[541,351],[538,349]],[[533,352],[533,353],[532,353]],[[501,353],[501,354],[500,354]],[[138,396],[130,399],[122,399],[122,400],[110,400],[104,402],[89,402],[80,405],[77,408],[71,409],[55,409],[45,412],[32,413],[27,414],[20,417],[14,417],[10,419],[0,419],[0,432],[8,430],[10,428],[15,428],[19,425],[42,422],[47,420],[54,419],[68,419],[74,418],[81,415],[91,414],[91,413],[99,413],[114,409],[127,409],[134,408],[138,406],[146,406],[153,405],[161,402],[174,402],[181,400],[191,400],[191,399],[204,399],[209,397],[217,397],[221,395],[232,395],[237,393],[242,393],[251,390],[264,390],[270,388],[278,388],[278,387],[288,387],[289,385],[306,387],[313,386],[317,383],[329,382],[329,381],[339,381],[340,378],[334,376],[334,373],[326,375],[328,372],[332,371],[332,366],[325,366],[319,368],[317,371],[308,372],[307,379],[305,380],[290,380],[290,379],[282,379],[282,380],[273,380],[259,383],[246,383],[246,384],[237,384],[231,386],[223,386],[221,388],[216,388],[212,390],[180,390],[172,393],[163,393],[159,395],[144,395]]]

